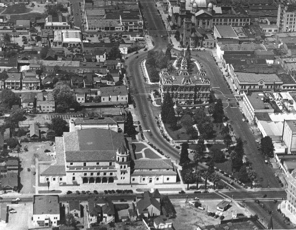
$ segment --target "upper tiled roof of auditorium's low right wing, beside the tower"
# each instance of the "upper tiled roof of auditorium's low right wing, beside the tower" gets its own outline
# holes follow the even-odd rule
[[[134,169],[173,169],[170,159],[139,159],[134,162]]]

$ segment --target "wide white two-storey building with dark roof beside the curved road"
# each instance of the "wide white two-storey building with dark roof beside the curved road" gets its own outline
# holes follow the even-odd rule
[[[101,87],[98,90],[101,102],[112,102],[114,106],[127,106],[128,92],[125,85]]]

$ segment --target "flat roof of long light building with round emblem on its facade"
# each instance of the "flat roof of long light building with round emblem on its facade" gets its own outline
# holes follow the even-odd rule
[[[266,83],[281,83],[281,79],[275,73],[246,73],[236,72],[237,79],[242,82],[253,83],[264,81]]]

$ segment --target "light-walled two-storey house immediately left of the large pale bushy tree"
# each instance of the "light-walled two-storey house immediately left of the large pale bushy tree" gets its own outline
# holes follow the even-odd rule
[[[56,108],[53,93],[37,93],[36,109],[38,113],[54,113]]]

